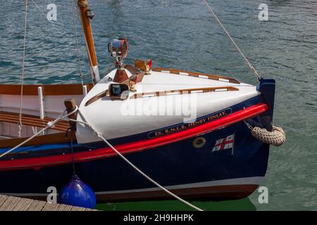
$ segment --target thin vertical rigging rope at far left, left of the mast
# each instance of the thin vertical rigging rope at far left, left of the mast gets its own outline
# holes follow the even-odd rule
[[[21,75],[21,92],[20,92],[20,114],[19,114],[19,124],[18,124],[19,137],[21,136],[21,131],[22,131],[23,82],[24,82],[24,70],[25,70],[25,42],[26,42],[26,30],[27,30],[27,3],[28,3],[27,0],[25,0],[22,75]]]

